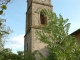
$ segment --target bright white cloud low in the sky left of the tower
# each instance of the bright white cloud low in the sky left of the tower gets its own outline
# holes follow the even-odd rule
[[[19,36],[14,36],[8,40],[5,44],[6,48],[11,48],[12,50],[23,50],[24,48],[24,34]]]

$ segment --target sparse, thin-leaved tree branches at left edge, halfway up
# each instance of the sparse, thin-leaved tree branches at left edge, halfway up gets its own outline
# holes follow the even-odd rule
[[[10,27],[7,27],[3,22],[5,19],[0,19],[0,50],[4,49],[5,39],[11,33]]]

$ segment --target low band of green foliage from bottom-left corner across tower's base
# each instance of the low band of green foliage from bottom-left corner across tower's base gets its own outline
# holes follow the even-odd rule
[[[39,52],[34,51],[31,53],[30,51],[25,51],[25,54],[24,54],[23,51],[18,51],[17,54],[15,54],[11,52],[11,49],[6,48],[0,51],[0,60],[9,60],[9,59],[11,60],[36,60],[35,55],[37,53]],[[41,58],[41,60],[44,60],[44,59]]]

